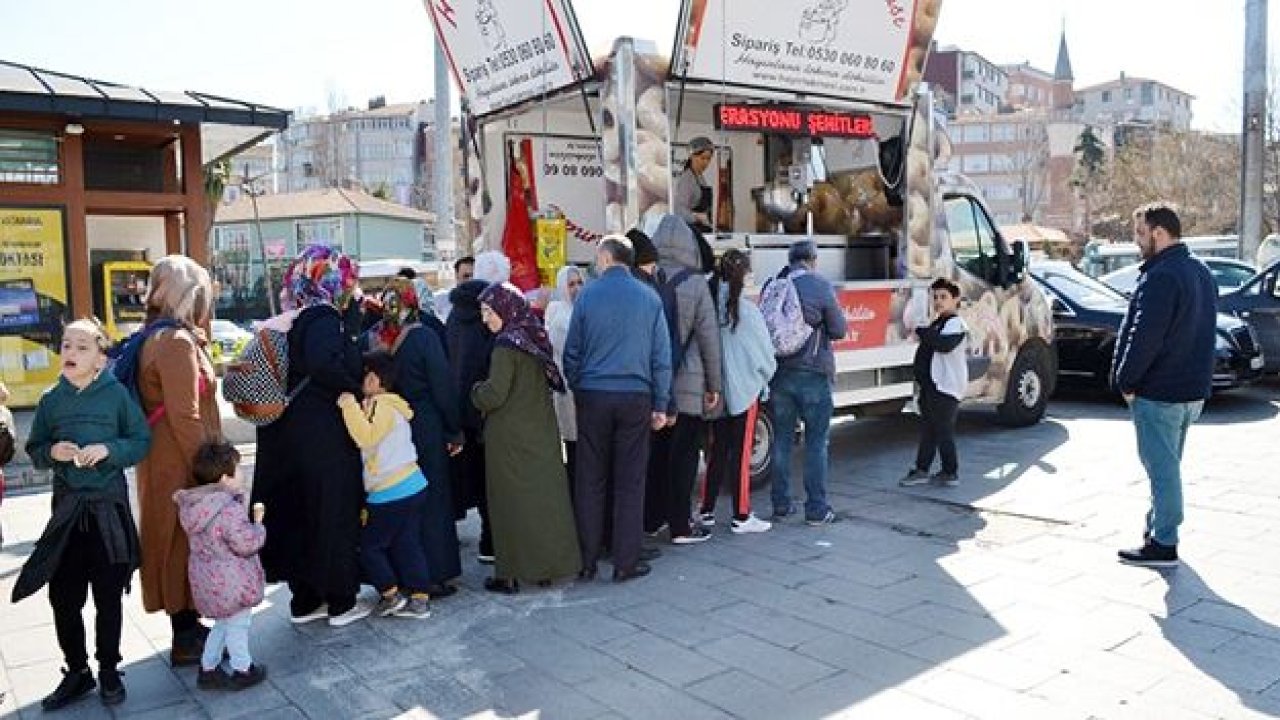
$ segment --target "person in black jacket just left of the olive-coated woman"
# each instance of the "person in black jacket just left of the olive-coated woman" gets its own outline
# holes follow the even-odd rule
[[[489,505],[485,502],[485,462],[481,428],[484,419],[471,404],[471,388],[489,377],[493,333],[480,319],[480,293],[489,287],[485,281],[467,281],[449,292],[453,309],[444,324],[449,342],[449,361],[458,396],[458,413],[465,437],[462,452],[453,457],[453,507],[458,520],[467,510],[480,512],[479,560],[493,562],[493,534],[489,528]]]

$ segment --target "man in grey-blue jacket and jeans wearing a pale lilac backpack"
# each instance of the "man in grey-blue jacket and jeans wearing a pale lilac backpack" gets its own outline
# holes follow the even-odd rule
[[[778,370],[769,383],[773,415],[773,519],[783,520],[795,506],[791,501],[791,445],[796,421],[804,421],[804,516],[810,525],[836,521],[827,503],[827,437],[831,429],[836,383],[836,355],[831,343],[849,328],[831,282],[817,273],[818,246],[812,240],[791,245],[790,265],[782,270],[795,284],[804,320],[813,325],[809,342],[794,355],[778,357]],[[781,277],[781,274],[780,274]]]

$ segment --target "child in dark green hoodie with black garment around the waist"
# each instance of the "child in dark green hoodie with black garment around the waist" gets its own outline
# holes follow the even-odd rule
[[[54,471],[54,514],[14,584],[17,602],[49,584],[58,644],[67,660],[58,689],[41,705],[63,708],[100,685],[104,705],[124,702],[120,683],[122,597],[138,568],[138,536],[124,469],[151,445],[142,409],[104,372],[109,341],[97,320],[63,331],[63,373],[45,391],[27,437],[27,455]],[[81,611],[88,591],[97,611],[97,682],[88,669]]]

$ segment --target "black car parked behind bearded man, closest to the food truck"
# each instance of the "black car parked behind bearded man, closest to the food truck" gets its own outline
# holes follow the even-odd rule
[[[1030,274],[1053,305],[1059,386],[1110,386],[1116,334],[1129,300],[1064,261],[1032,265]],[[1280,302],[1276,302],[1280,309]],[[1280,314],[1276,315],[1280,318]],[[1247,323],[1219,313],[1213,389],[1230,389],[1262,374],[1262,352]]]

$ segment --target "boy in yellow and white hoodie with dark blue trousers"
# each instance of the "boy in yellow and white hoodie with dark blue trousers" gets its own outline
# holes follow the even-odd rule
[[[381,598],[374,614],[429,618],[430,577],[419,528],[426,506],[426,477],[408,421],[413,411],[396,384],[396,360],[387,352],[365,355],[364,404],[349,392],[338,397],[342,419],[365,461],[365,528],[360,561]]]

